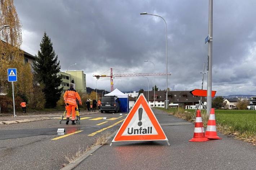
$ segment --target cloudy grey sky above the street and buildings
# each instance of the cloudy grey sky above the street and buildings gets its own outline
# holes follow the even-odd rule
[[[115,73],[165,72],[167,22],[168,79],[171,90],[201,88],[203,63],[207,61],[207,0],[14,0],[23,25],[22,49],[35,55],[44,31],[52,39],[61,70],[71,64],[84,70],[87,86],[110,68]],[[216,95],[256,94],[256,1],[213,2],[213,90]],[[105,74],[110,74],[110,71]],[[205,77],[207,82],[207,75]],[[98,81],[110,90],[110,78]],[[149,86],[154,86],[149,77]],[[156,76],[166,88],[166,77]],[[114,88],[133,91],[146,88],[143,77],[116,77]],[[207,89],[206,83],[204,89]]]

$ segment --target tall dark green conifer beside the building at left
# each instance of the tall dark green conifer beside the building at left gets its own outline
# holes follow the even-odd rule
[[[57,76],[61,67],[58,61],[58,55],[55,54],[50,38],[44,32],[40,43],[40,50],[37,53],[34,63],[34,71],[37,81],[43,84],[45,95],[45,107],[55,107],[61,97],[63,88],[58,88],[61,84],[61,77]]]

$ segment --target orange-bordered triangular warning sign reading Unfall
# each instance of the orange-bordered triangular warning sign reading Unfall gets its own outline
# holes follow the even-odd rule
[[[143,94],[139,96],[112,140],[118,141],[168,141]]]

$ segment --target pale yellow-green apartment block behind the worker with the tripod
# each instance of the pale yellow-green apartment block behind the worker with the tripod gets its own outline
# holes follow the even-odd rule
[[[59,72],[58,76],[61,77],[62,83],[59,88],[63,87],[63,92],[69,89],[69,83],[74,80],[75,89],[86,93],[86,74],[82,70],[70,70]]]

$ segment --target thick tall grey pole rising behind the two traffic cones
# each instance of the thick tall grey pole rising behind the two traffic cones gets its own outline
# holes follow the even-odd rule
[[[209,23],[208,23],[208,75],[207,75],[207,114],[212,108],[212,2],[209,0]]]

